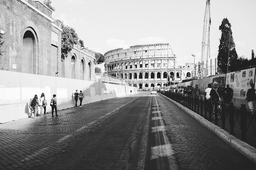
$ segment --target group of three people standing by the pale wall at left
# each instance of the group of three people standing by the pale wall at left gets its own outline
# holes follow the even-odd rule
[[[35,95],[34,98],[31,101],[30,106],[33,109],[32,112],[31,112],[31,118],[34,118],[35,116],[39,116],[39,115],[43,116],[43,112],[44,112],[44,115],[45,115],[46,114],[46,106],[47,106],[45,93],[41,94],[41,97],[40,97],[39,100],[38,100],[37,95]],[[40,113],[38,113],[38,106],[40,107]],[[57,99],[56,99],[55,94],[53,95],[53,97],[51,99],[50,106],[52,106],[52,117],[54,117],[54,115],[53,115],[54,110],[55,110],[55,115],[57,117],[58,116],[57,115]]]

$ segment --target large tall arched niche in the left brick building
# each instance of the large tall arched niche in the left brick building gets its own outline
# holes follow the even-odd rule
[[[37,73],[38,65],[38,37],[36,32],[31,27],[25,29],[22,42],[22,73]]]

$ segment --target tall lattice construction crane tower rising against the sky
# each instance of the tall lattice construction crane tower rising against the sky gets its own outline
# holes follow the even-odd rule
[[[201,66],[200,66],[200,78],[208,76],[208,57],[210,57],[210,0],[206,1],[205,13],[204,13],[204,29],[202,40],[202,53],[201,53]]]

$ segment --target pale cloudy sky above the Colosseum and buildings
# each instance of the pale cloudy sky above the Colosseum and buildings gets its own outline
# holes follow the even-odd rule
[[[210,0],[210,59],[217,57],[223,18],[238,56],[256,53],[256,0]],[[169,43],[177,64],[201,61],[206,0],[52,0],[54,19],[74,28],[85,47],[106,53],[133,45]],[[208,59],[208,63],[210,61]]]

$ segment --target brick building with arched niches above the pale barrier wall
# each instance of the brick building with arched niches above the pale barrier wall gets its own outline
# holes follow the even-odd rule
[[[1,0],[0,69],[94,81],[93,51],[76,44],[61,60],[61,27],[52,10],[38,0]]]

